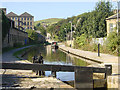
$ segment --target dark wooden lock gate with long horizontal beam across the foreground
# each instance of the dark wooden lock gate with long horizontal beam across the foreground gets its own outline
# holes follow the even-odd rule
[[[98,81],[104,81],[103,87],[106,87],[107,76],[112,74],[112,66],[105,65],[105,68],[98,67],[83,67],[83,66],[70,66],[70,65],[52,65],[52,64],[37,64],[37,63],[1,63],[2,69],[14,70],[39,70],[51,71],[56,77],[56,72],[75,72],[74,87],[89,88],[93,90],[94,84]],[[93,73],[104,73],[104,79],[93,79]]]

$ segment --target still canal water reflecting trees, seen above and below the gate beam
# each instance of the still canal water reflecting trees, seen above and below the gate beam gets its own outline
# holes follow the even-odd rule
[[[33,47],[23,58],[32,62],[32,57],[34,55],[42,54],[44,64],[55,64],[55,65],[76,65],[76,66],[87,66],[88,63],[80,60],[69,53],[65,53],[59,49],[55,50],[48,46],[36,46]],[[46,71],[46,76],[50,76],[51,72]],[[74,80],[74,72],[57,72],[57,78],[62,81],[72,81]]]

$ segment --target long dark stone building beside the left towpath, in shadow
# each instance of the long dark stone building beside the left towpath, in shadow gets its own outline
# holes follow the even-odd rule
[[[13,47],[18,43],[21,45],[29,43],[28,34],[24,31],[18,30],[17,28],[11,28],[2,43],[3,48]]]

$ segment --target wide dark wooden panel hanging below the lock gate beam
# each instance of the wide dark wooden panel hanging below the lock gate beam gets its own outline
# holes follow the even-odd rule
[[[81,90],[93,90],[93,70],[75,68],[74,87]]]

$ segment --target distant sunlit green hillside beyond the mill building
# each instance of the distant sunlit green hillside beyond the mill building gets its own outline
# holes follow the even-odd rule
[[[62,18],[49,18],[49,19],[44,19],[44,20],[39,20],[39,21],[35,21],[34,25],[36,26],[37,24],[41,24],[41,25],[52,25],[54,23],[59,22],[60,20],[62,20]]]

